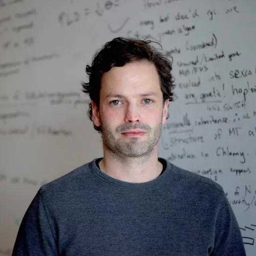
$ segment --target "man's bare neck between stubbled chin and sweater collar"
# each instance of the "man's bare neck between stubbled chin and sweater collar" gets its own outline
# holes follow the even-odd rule
[[[121,158],[104,152],[99,166],[107,175],[133,183],[152,181],[161,174],[163,169],[162,163],[158,161],[157,152],[138,158]]]

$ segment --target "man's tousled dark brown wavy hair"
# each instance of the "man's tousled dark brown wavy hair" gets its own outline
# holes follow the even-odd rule
[[[173,101],[175,84],[171,74],[172,61],[169,61],[165,54],[151,46],[150,43],[152,42],[160,45],[162,50],[162,46],[158,42],[117,37],[107,42],[94,54],[91,66],[86,66],[89,81],[88,83],[82,82],[81,85],[82,91],[89,94],[90,99],[95,102],[98,109],[100,109],[102,74],[108,72],[111,67],[122,67],[132,61],[148,61],[155,64],[160,78],[163,104],[167,99]],[[92,114],[92,103],[90,103],[88,116],[91,121],[93,121]],[[101,133],[101,126],[94,125],[94,129]]]

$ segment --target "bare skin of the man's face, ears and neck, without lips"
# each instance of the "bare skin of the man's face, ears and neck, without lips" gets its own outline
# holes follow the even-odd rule
[[[141,95],[150,94],[155,95]],[[112,95],[110,95],[112,94]],[[92,101],[93,120],[101,126],[104,157],[100,168],[125,182],[148,182],[160,175],[158,141],[166,123],[169,101],[163,105],[155,65],[147,61],[112,67],[101,78],[100,109]],[[125,136],[128,130],[146,132]]]

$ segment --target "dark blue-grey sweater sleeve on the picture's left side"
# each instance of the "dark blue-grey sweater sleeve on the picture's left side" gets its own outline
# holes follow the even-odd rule
[[[12,256],[58,255],[56,231],[44,208],[40,190],[29,205],[18,231]]]

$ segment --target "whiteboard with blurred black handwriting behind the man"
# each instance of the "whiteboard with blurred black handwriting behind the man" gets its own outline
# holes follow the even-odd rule
[[[81,92],[117,36],[173,58],[159,156],[218,182],[256,251],[255,0],[0,1],[0,256],[41,185],[103,155]]]

